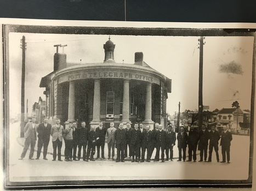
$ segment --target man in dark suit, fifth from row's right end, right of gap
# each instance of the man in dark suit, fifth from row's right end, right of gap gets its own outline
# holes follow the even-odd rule
[[[187,133],[184,132],[184,127],[180,127],[180,131],[177,135],[178,140],[178,150],[179,150],[179,159],[177,161],[186,160],[186,147],[187,147]],[[181,150],[183,151],[183,157],[181,156]]]

